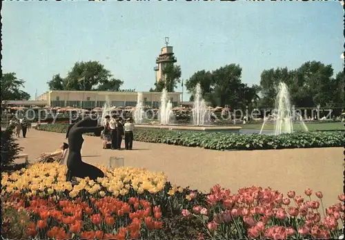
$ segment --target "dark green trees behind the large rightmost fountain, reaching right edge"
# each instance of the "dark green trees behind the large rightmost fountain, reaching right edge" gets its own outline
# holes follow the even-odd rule
[[[287,67],[264,70],[260,88],[262,107],[274,107],[279,82],[288,85],[290,100],[295,107],[343,107],[344,72],[333,78],[331,65],[309,61],[297,69]]]

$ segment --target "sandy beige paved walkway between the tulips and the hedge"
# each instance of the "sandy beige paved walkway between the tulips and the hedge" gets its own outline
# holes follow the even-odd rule
[[[30,129],[27,138],[19,138],[29,160],[42,152],[55,151],[65,134]],[[244,186],[270,186],[286,193],[312,188],[324,193],[324,204],[337,201],[343,192],[341,147],[320,149],[284,149],[266,151],[213,151],[201,148],[134,142],[132,151],[102,149],[100,138],[85,136],[82,155],[85,162],[108,164],[109,157],[122,156],[125,166],[164,171],[168,180],[181,186],[209,190],[221,184],[231,190]]]

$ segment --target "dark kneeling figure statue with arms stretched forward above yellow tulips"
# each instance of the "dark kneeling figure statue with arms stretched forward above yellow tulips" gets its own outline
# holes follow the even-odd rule
[[[68,171],[66,181],[71,181],[72,177],[90,177],[96,180],[97,177],[104,177],[104,173],[97,167],[81,161],[81,146],[83,145],[83,133],[95,133],[100,136],[104,127],[97,127],[96,116],[86,116],[74,124],[68,132],[69,154],[67,158]]]

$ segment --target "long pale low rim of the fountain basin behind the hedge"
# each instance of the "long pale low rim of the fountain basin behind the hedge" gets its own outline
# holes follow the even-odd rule
[[[170,131],[198,131],[208,133],[239,133],[242,127],[214,127],[214,126],[179,126],[179,125],[152,125],[136,124],[136,129],[166,129]]]

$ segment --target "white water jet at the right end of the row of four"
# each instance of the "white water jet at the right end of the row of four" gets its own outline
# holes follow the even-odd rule
[[[205,100],[201,96],[201,87],[199,83],[195,89],[192,113],[194,126],[204,126],[205,122],[209,122],[210,120],[210,112],[208,111]]]

